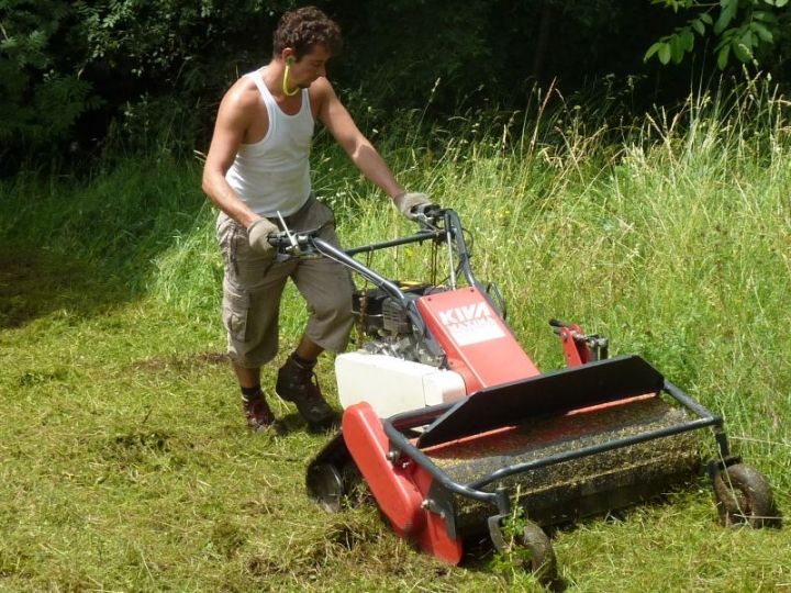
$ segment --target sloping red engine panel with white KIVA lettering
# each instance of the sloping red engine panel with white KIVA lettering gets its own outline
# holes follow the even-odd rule
[[[474,287],[422,296],[417,309],[467,393],[538,374],[511,328]]]

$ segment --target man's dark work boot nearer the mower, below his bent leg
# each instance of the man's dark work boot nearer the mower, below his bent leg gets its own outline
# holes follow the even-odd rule
[[[297,404],[297,410],[311,428],[328,428],[337,423],[337,414],[324,401],[315,381],[313,365],[305,365],[289,356],[278,371],[275,391],[286,401]]]

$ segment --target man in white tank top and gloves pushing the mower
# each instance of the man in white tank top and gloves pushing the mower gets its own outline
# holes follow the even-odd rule
[[[310,318],[278,372],[275,390],[297,404],[309,425],[326,427],[335,413],[314,381],[313,368],[325,349],[346,347],[352,280],[348,270],[326,258],[276,260],[267,240],[280,231],[280,214],[290,230],[320,227],[322,238],[338,244],[332,211],[311,190],[308,160],[314,121],[327,127],[357,168],[406,216],[428,200],[405,192],[396,181],[326,79],[326,63],[341,49],[336,23],[314,7],[288,12],[272,45],[270,63],[237,80],[220,103],[203,191],[221,210],[223,322],[248,426],[263,430],[275,419],[261,391],[260,367],[277,355],[280,298],[291,278],[308,302]]]

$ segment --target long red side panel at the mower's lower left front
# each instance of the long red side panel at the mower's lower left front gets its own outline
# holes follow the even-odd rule
[[[346,409],[343,435],[352,458],[393,530],[404,537],[422,529],[425,521],[421,508],[423,496],[411,480],[413,468],[388,460],[388,438],[370,404],[361,402]]]

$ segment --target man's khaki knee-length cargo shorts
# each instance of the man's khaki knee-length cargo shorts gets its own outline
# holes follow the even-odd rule
[[[291,231],[321,228],[321,238],[339,245],[332,210],[313,197],[286,224]],[[289,278],[308,303],[305,335],[326,350],[346,349],[354,290],[346,267],[324,257],[277,261],[274,254],[254,253],[247,230],[223,213],[218,217],[216,236],[225,266],[222,316],[234,363],[258,368],[277,355],[280,299]]]

